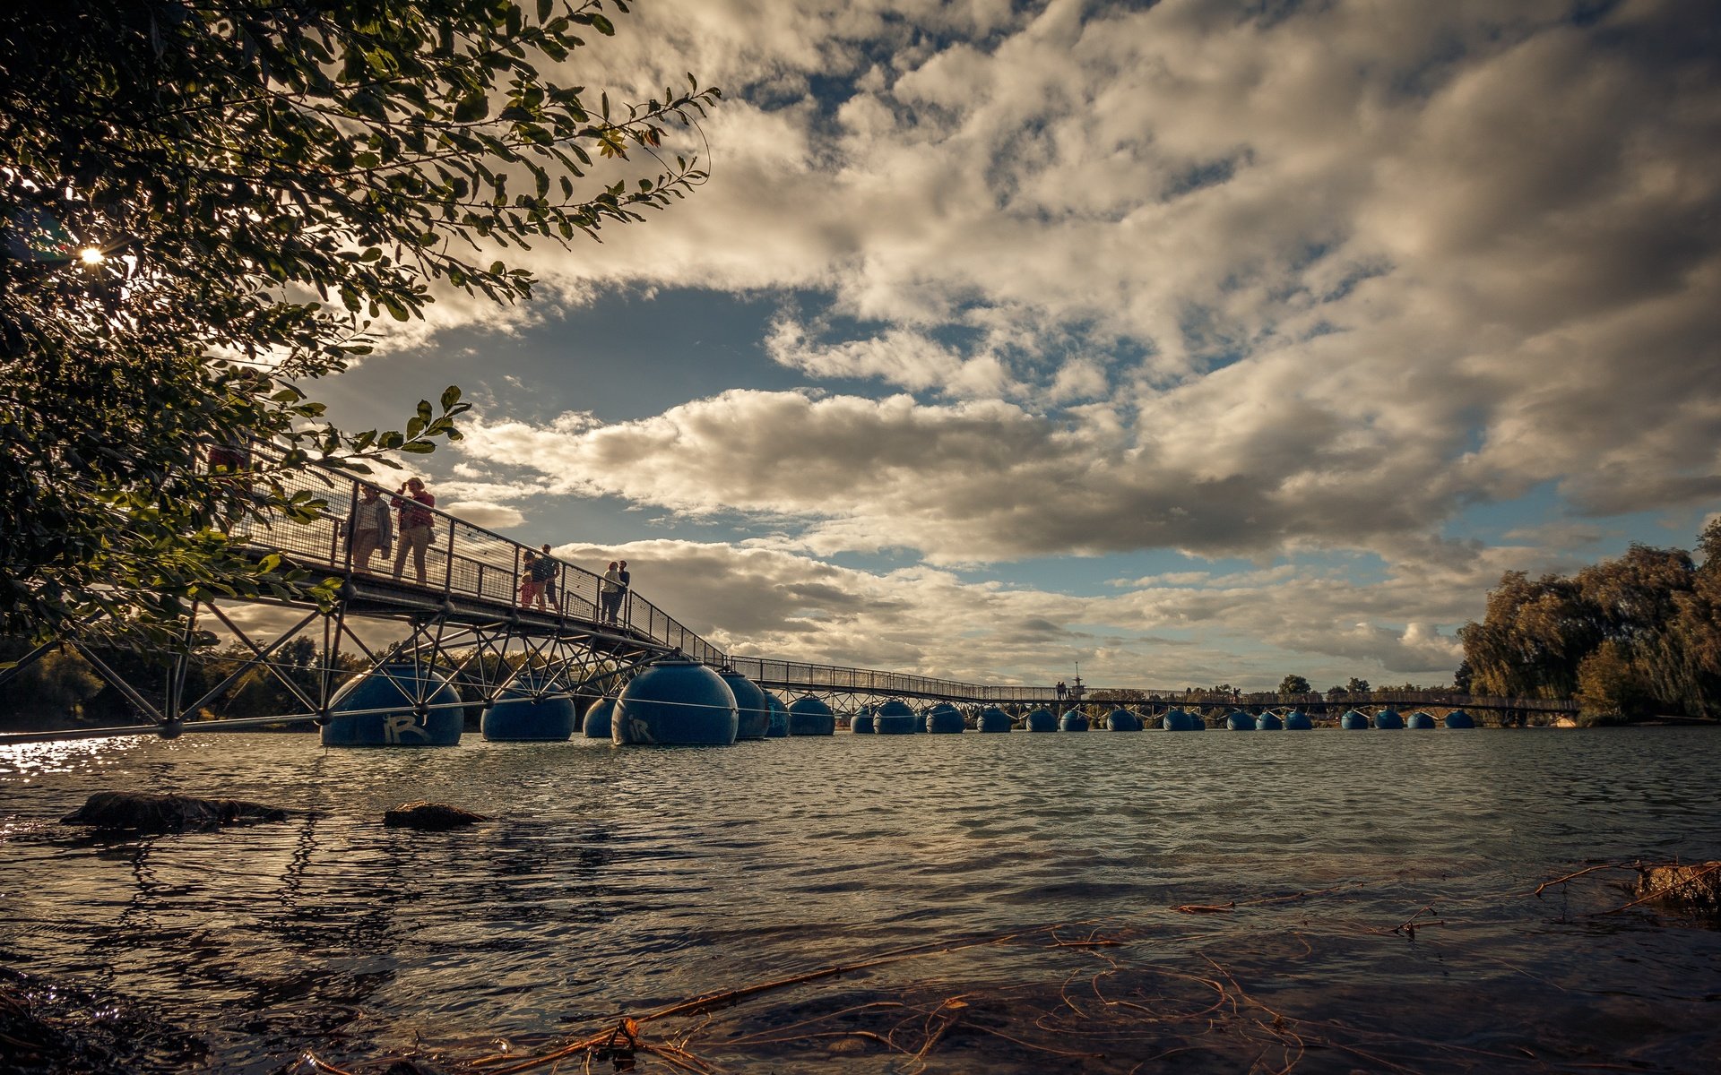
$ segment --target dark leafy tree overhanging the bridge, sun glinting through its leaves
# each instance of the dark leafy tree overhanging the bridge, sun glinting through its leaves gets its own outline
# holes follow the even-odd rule
[[[299,585],[222,535],[212,444],[281,445],[255,509],[303,516],[279,468],[458,437],[456,389],[344,433],[308,382],[437,289],[527,298],[509,249],[704,179],[669,146],[716,89],[571,84],[613,33],[599,0],[0,5],[0,633]]]

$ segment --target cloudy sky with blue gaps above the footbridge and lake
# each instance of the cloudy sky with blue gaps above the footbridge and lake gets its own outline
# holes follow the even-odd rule
[[[709,181],[315,387],[737,654],[1449,683],[1501,573],[1721,511],[1707,0],[647,0]],[[654,174],[638,158],[633,174]]]

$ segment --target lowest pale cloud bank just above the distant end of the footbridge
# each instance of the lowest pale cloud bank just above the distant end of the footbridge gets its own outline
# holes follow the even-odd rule
[[[742,655],[984,683],[1052,683],[1079,664],[1100,686],[1260,690],[1287,671],[1444,683],[1461,659],[1451,631],[1411,619],[1453,623],[1456,607],[1428,605],[1408,576],[1358,587],[1299,574],[1284,585],[1294,573],[1282,569],[1212,576],[1201,590],[1074,597],[928,566],[873,573],[785,549],[640,540],[554,552],[583,564],[625,557],[644,597]],[[1255,642],[1263,631],[1275,648]]]

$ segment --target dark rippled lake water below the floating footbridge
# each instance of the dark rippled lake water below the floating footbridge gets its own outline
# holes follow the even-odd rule
[[[649,1020],[685,1053],[635,1070],[1718,1072],[1721,931],[1618,910],[1623,870],[1530,894],[1721,858],[1718,748],[1675,728],[12,746],[0,965],[46,1013],[102,1004],[91,1034],[141,1072],[458,1072],[886,953]],[[100,789],[317,815],[59,824]],[[418,798],[496,819],[380,824]]]

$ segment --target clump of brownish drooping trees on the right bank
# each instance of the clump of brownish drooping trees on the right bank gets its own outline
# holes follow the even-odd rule
[[[1571,576],[1508,571],[1459,631],[1477,693],[1575,698],[1588,722],[1721,716],[1721,519],[1697,554],[1633,544]]]

